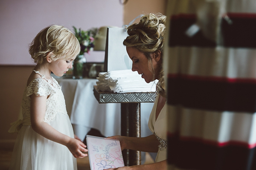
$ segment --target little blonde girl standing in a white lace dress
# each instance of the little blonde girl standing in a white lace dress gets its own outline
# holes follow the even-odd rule
[[[32,41],[29,54],[37,65],[23,94],[23,119],[9,130],[18,132],[10,170],[77,170],[76,158],[87,156],[83,142],[74,139],[61,86],[50,75],[63,76],[79,51],[63,26],[44,28]]]

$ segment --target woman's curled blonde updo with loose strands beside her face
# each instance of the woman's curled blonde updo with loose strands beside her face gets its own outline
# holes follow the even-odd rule
[[[145,56],[148,58],[149,70],[153,76],[155,71],[150,54],[156,51],[161,51],[161,57],[163,57],[163,42],[166,28],[165,22],[166,16],[162,14],[158,13],[144,15],[140,18],[139,23],[128,26],[128,37],[123,42],[126,47],[137,48],[139,51],[145,54]],[[159,72],[160,78],[157,88],[159,88],[160,94],[165,96],[163,65],[161,65]]]

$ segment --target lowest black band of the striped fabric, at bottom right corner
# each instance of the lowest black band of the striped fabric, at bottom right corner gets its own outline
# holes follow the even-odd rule
[[[255,148],[217,147],[168,136],[168,164],[195,170],[255,170]]]

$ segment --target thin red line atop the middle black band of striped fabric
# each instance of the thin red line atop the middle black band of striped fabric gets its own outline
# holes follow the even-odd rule
[[[216,76],[195,76],[189,74],[168,74],[168,78],[183,78],[199,81],[215,81],[215,82],[242,82],[256,84],[256,79],[253,78],[228,78],[228,77],[216,77]]]

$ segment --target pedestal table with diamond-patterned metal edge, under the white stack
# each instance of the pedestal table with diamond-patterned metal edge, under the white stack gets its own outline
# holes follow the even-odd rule
[[[140,137],[140,103],[154,102],[156,94],[102,92],[94,86],[94,96],[99,103],[121,103],[121,135]],[[125,166],[139,165],[141,153],[136,150],[123,150]]]

